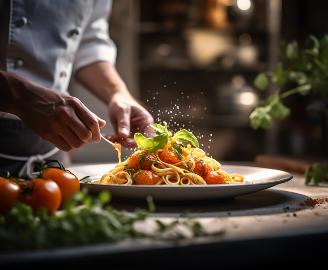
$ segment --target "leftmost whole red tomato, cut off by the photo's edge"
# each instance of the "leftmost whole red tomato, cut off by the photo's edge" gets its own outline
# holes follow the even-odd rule
[[[0,214],[8,214],[18,199],[19,190],[14,181],[0,177]]]

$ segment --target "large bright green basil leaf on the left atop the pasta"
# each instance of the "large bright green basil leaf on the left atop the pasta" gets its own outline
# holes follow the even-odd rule
[[[163,148],[168,142],[168,136],[166,133],[157,135],[153,138],[147,139],[140,133],[134,135],[134,139],[141,150],[149,150],[150,152],[155,152],[158,149]]]

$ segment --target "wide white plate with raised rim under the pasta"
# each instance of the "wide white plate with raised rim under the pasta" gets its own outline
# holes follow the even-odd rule
[[[91,175],[92,182],[113,169],[115,164],[84,165],[68,168],[79,179]],[[251,194],[257,191],[285,183],[292,179],[292,174],[276,169],[264,169],[247,166],[222,165],[228,173],[239,173],[249,184],[243,185],[204,185],[204,186],[120,186],[84,184],[91,194],[97,195],[102,190],[109,190],[112,201],[125,203],[146,202],[151,195],[155,203],[200,203],[200,201],[220,201]]]

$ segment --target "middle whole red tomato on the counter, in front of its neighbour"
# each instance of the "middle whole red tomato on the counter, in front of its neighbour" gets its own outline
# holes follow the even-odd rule
[[[18,200],[20,202],[30,205],[34,212],[40,208],[46,208],[48,214],[58,210],[61,203],[61,192],[54,181],[35,178],[29,181],[29,186],[33,188],[33,191],[19,194]]]

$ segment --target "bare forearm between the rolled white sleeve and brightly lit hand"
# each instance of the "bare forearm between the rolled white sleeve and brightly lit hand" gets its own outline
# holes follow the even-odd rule
[[[115,66],[108,62],[97,62],[84,67],[76,73],[76,78],[107,104],[114,94],[131,97]]]

